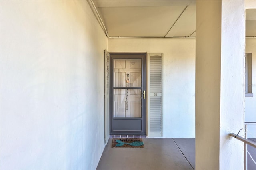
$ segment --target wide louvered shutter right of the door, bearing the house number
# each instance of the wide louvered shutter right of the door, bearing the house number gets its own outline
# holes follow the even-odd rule
[[[162,53],[148,54],[148,137],[163,136]]]

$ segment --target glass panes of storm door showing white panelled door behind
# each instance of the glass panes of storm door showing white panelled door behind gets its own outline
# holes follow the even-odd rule
[[[114,59],[113,84],[113,117],[141,117],[141,59]]]

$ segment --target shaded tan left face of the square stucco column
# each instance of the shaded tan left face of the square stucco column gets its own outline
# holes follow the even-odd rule
[[[221,1],[196,1],[195,158],[199,170],[219,169],[220,28]]]

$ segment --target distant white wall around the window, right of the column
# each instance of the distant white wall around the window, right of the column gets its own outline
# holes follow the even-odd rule
[[[256,122],[256,38],[246,38],[245,52],[252,53],[252,93],[245,97],[245,121]],[[248,125],[248,138],[256,138],[256,125]]]

